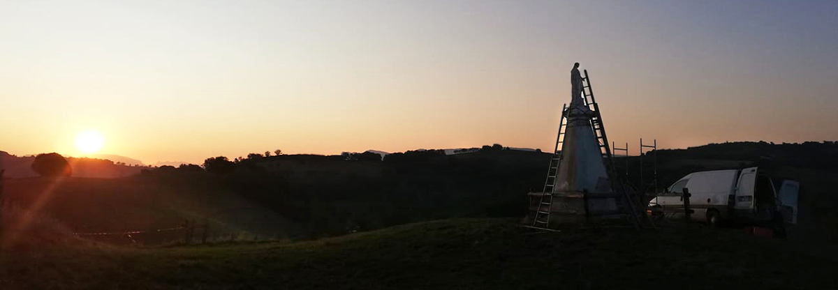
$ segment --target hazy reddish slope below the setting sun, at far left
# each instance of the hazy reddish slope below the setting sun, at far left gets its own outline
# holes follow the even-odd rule
[[[146,231],[209,222],[209,236],[249,232],[298,237],[303,229],[264,206],[218,186],[213,176],[130,176],[116,179],[32,177],[5,181],[5,210],[46,216],[74,232]],[[206,219],[204,220],[204,217]],[[176,237],[155,237],[171,242]],[[152,237],[137,235],[139,242]],[[168,241],[166,241],[168,239]],[[116,236],[116,243],[130,242]],[[160,242],[160,241],[158,241]]]

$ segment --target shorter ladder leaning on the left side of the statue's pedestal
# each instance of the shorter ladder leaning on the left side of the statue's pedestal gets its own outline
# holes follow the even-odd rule
[[[553,155],[550,158],[550,165],[547,166],[547,179],[544,181],[544,191],[541,191],[541,200],[538,202],[538,208],[535,211],[535,218],[532,221],[532,226],[550,226],[550,209],[553,205],[552,193],[556,189],[556,176],[559,175],[559,165],[561,165],[560,149],[562,143],[564,143],[564,140],[561,137],[565,135],[565,128],[567,126],[567,123],[565,122],[568,113],[567,110],[567,104],[561,106],[559,135],[556,136],[556,147],[553,148]]]

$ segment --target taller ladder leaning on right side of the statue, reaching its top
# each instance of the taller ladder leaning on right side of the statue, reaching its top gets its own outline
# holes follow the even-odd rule
[[[593,111],[593,116],[591,117],[591,126],[593,128],[594,137],[597,139],[597,143],[599,145],[600,153],[603,155],[603,163],[605,165],[605,170],[608,172],[608,179],[611,181],[611,187],[613,191],[617,191],[619,194],[622,194],[622,199],[616,199],[618,209],[629,213],[629,220],[634,224],[634,227],[640,229],[640,227],[652,227],[654,228],[654,222],[649,218],[648,215],[645,214],[644,211],[639,210],[639,203],[638,196],[634,194],[633,191],[630,191],[627,186],[623,183],[622,179],[618,177],[617,171],[615,170],[613,155],[611,154],[611,148],[608,146],[608,136],[605,135],[605,127],[603,125],[603,115],[599,112],[599,104],[597,104],[597,100],[593,97],[593,89],[591,88],[591,79],[587,74],[587,69],[584,70],[585,76],[582,77],[582,95],[585,99],[585,104],[587,105],[588,109]],[[625,204],[623,204],[623,202]],[[640,212],[638,212],[640,211]],[[645,224],[645,225],[644,225]]]

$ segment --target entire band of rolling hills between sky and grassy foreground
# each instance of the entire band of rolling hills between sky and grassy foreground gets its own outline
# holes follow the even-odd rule
[[[137,176],[72,178],[58,185],[12,179],[7,191],[24,207],[46,202],[39,211],[76,231],[165,228],[209,216],[235,225],[217,225],[230,231],[274,236],[282,230],[310,238],[446,218],[525,216],[526,192],[541,190],[550,155],[486,147],[458,155],[444,155],[444,150],[393,153],[383,161],[280,155],[242,160],[226,173],[162,167]],[[816,233],[813,237],[838,236],[838,195],[831,186],[838,171],[820,168],[823,162],[802,153],[828,156],[834,147],[827,142],[737,142],[660,150],[659,191],[690,172],[742,168],[758,161],[748,158],[774,156],[777,177],[801,182],[799,221]],[[642,167],[648,182],[653,172],[649,159],[647,166],[638,157],[628,160],[629,180],[639,184]],[[618,168],[624,168],[623,161],[616,161]],[[47,191],[48,186],[56,187]],[[44,193],[53,197],[40,200],[37,196]]]

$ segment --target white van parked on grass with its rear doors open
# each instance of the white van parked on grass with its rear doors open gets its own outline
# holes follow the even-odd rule
[[[675,181],[649,202],[653,216],[683,216],[684,189],[691,194],[691,220],[716,226],[722,221],[755,226],[784,219],[797,223],[799,183],[784,181],[776,191],[771,177],[757,167],[694,172]]]

